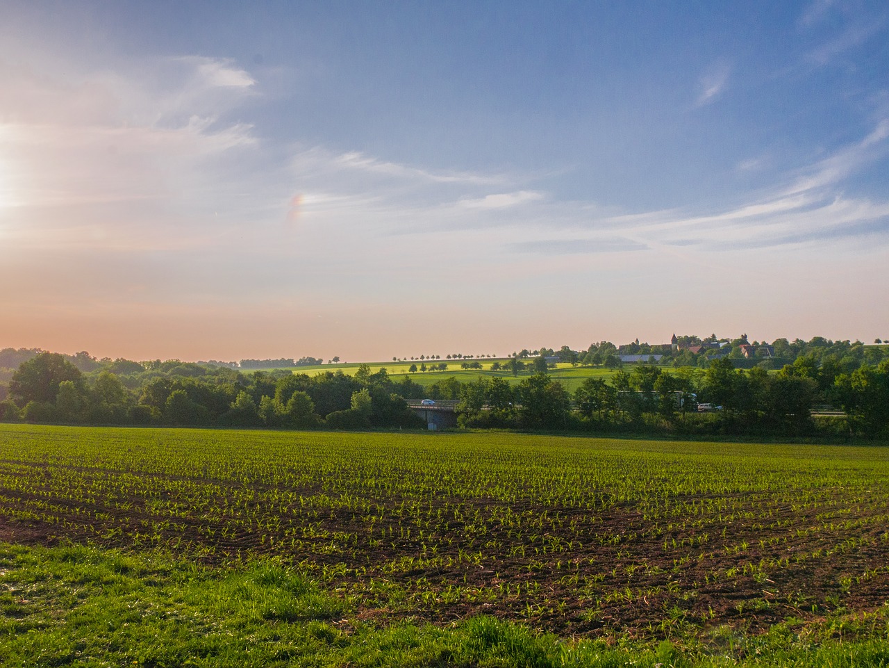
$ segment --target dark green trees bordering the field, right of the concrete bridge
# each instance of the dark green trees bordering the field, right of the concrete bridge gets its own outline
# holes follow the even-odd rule
[[[453,379],[451,379],[453,381]],[[735,436],[889,436],[889,360],[852,373],[797,358],[776,374],[713,360],[667,373],[639,365],[608,383],[588,378],[573,395],[545,373],[516,386],[502,378],[442,382],[432,398],[459,398],[459,422],[477,428],[628,431]],[[708,406],[701,413],[699,406]],[[712,406],[712,407],[709,407]],[[816,409],[823,414],[813,416]],[[831,408],[845,414],[830,414]]]

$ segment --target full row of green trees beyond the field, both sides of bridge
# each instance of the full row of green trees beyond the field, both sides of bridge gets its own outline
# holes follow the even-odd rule
[[[309,429],[422,428],[406,399],[453,399],[461,426],[633,433],[889,436],[889,360],[851,372],[830,358],[797,358],[778,373],[638,365],[611,382],[588,378],[575,392],[546,373],[516,384],[502,377],[423,387],[362,365],[354,376],[280,370],[242,374],[179,360],[115,360],[82,372],[66,356],[22,362],[0,401],[0,420],[32,423],[157,424]],[[700,404],[713,409],[701,413]],[[829,415],[836,407],[843,414]],[[813,409],[821,408],[813,417]]]

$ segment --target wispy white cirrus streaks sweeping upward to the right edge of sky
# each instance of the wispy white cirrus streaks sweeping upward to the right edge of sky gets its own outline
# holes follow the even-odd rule
[[[818,245],[865,238],[889,238],[889,201],[845,197],[842,185],[870,160],[885,155],[889,123],[877,124],[861,141],[838,150],[752,196],[749,202],[712,213],[683,209],[618,215],[562,215],[559,227],[583,235],[553,239],[528,229],[533,239],[509,245],[513,252],[591,254],[634,248],[730,251],[785,245]],[[544,217],[546,213],[543,214]],[[616,241],[618,239],[619,241]]]

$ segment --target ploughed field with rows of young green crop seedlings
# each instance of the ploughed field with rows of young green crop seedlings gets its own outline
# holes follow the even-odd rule
[[[0,542],[274,556],[380,623],[751,634],[889,605],[889,448],[2,425]]]

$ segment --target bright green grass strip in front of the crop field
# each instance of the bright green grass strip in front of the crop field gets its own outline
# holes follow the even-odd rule
[[[4,666],[886,666],[889,610],[687,643],[560,640],[478,616],[447,628],[358,621],[274,559],[196,566],[159,551],[0,543]]]

